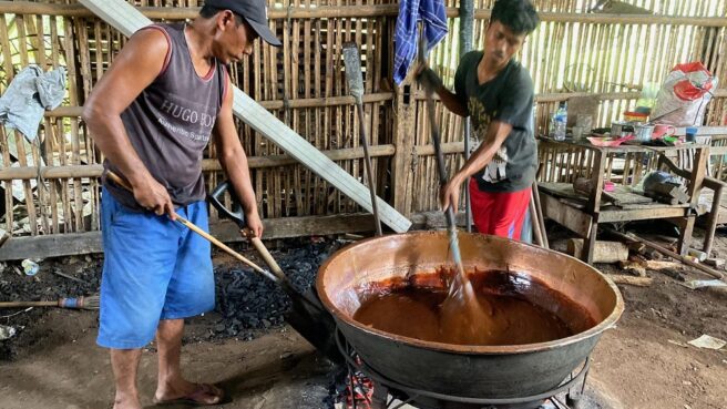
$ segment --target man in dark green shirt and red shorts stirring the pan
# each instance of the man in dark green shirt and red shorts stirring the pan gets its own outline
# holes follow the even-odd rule
[[[480,233],[519,239],[537,167],[533,135],[533,82],[513,55],[540,19],[529,0],[498,0],[492,8],[482,51],[460,61],[454,93],[430,69],[423,81],[450,111],[472,119],[479,147],[442,187],[443,208],[458,208],[468,177],[472,216]]]

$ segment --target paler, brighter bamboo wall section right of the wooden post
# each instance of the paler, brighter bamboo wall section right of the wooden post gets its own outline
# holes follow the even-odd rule
[[[642,84],[661,84],[674,65],[696,60],[703,61],[719,81],[705,124],[727,124],[727,1],[624,2],[663,16],[590,13],[596,1],[533,0],[542,22],[526,39],[516,59],[533,78],[536,133],[546,132],[549,115],[560,101],[584,95],[600,98],[594,126],[607,126],[612,121],[621,120],[624,111],[635,108]],[[475,49],[484,47],[489,10],[493,3],[494,0],[474,0]],[[458,33],[459,18],[454,8],[459,1],[447,0],[447,4],[450,7],[450,33]],[[459,60],[458,40],[457,35],[448,37],[433,50],[431,59],[450,86],[453,86]],[[423,112],[421,100],[417,112]],[[423,117],[417,119],[417,130],[427,129],[424,121]],[[439,111],[439,121],[443,141],[462,140],[462,123],[457,115]],[[428,141],[428,132],[417,133],[418,145],[426,145]],[[542,146],[539,154],[544,165],[540,180],[549,182],[570,182],[574,176],[588,174],[593,161],[588,152],[577,149],[563,151]],[[637,174],[652,166],[651,159],[632,156],[610,160],[607,171],[610,175],[617,173],[613,177],[616,182],[637,183]],[[461,164],[461,155],[453,153],[449,161],[451,172]],[[416,173],[434,175],[433,170],[433,159],[427,159],[417,163]],[[624,171],[626,177],[622,175]],[[437,187],[433,183],[428,187],[432,193],[417,195],[412,212],[434,208],[433,192]]]

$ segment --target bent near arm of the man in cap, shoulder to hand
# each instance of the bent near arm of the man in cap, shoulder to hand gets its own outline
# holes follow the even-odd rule
[[[134,198],[157,215],[175,217],[166,192],[149,172],[129,141],[121,113],[160,74],[168,43],[158,30],[142,30],[131,37],[113,64],[93,88],[83,105],[83,121],[103,154],[129,180]]]

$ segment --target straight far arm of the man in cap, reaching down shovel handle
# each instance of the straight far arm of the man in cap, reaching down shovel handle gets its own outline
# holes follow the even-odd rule
[[[235,121],[233,120],[233,86],[229,79],[227,81],[227,94],[222,103],[219,114],[215,121],[214,141],[217,146],[217,156],[223,171],[229,177],[229,181],[237,193],[237,198],[243,205],[247,227],[257,237],[263,236],[263,222],[257,212],[255,201],[255,191],[250,182],[249,167],[247,166],[247,155],[239,142]]]

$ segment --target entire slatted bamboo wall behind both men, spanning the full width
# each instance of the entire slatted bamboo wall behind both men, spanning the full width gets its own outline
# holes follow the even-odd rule
[[[194,8],[201,3],[131,2],[156,21],[193,18]],[[585,13],[593,1],[535,1],[543,22],[528,39],[519,59],[535,81],[539,130],[544,130],[547,113],[557,101],[583,94],[601,96],[597,123],[607,124],[633,108],[638,93],[628,84],[659,82],[678,62],[702,59],[724,88],[727,0],[629,2],[668,17],[598,16]],[[483,44],[492,3],[475,0],[475,48]],[[448,0],[447,4],[450,37],[436,48],[431,61],[451,84],[459,60],[459,18],[457,0]],[[398,4],[392,0],[294,0],[274,4],[269,16],[284,48],[258,44],[254,57],[235,64],[232,72],[240,89],[364,182],[362,153],[356,149],[357,117],[352,99],[346,96],[340,54],[344,42],[359,43],[379,194],[409,215],[437,208],[438,181],[423,95],[411,79],[402,88],[395,88],[390,80],[397,12]],[[123,35],[74,0],[0,1],[0,92],[28,63],[69,70],[68,99],[63,108],[45,115],[40,129],[42,143],[23,144],[13,132],[0,130],[4,206],[14,209],[7,212],[2,221],[7,231],[45,235],[99,228],[98,175],[102,157],[80,120],[80,106],[123,42]],[[632,54],[641,55],[638,64],[628,63]],[[710,103],[708,124],[726,123],[726,96],[719,91]],[[444,147],[450,152],[449,167],[454,170],[462,161],[462,122],[441,106],[437,112]],[[242,124],[239,131],[265,218],[360,212],[352,201],[295,164],[263,136]],[[8,165],[11,154],[20,167]],[[211,187],[219,180],[214,156],[211,147],[205,161]],[[553,153],[547,160],[560,161],[562,155]],[[587,163],[587,159],[583,161]],[[11,186],[16,187],[14,198]],[[22,197],[33,201],[25,203]],[[23,226],[28,227],[23,231]]]

